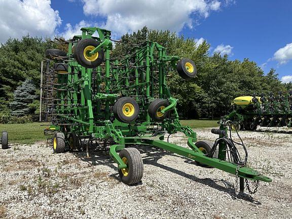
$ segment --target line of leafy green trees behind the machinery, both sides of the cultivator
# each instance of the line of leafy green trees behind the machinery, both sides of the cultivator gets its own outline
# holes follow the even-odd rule
[[[170,31],[150,30],[143,27],[122,36],[116,43],[112,58],[122,58],[133,52],[133,45],[146,40],[155,41],[167,49],[168,55],[192,59],[197,66],[196,78],[181,83],[181,78],[169,69],[167,83],[178,99],[182,118],[213,118],[227,114],[231,101],[253,93],[287,92],[291,83],[283,84],[275,69],[264,74],[261,67],[248,58],[230,60],[227,55],[209,54],[210,45],[198,44],[194,38],[185,38]],[[50,39],[9,39],[0,47],[0,123],[36,120],[39,110],[41,61],[46,49],[66,50],[64,45]],[[26,98],[22,98],[22,97]],[[21,118],[25,118],[21,120]]]

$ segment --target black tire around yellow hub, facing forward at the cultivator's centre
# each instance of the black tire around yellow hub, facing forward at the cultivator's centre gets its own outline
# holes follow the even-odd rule
[[[128,117],[123,113],[123,106],[126,103],[131,103],[133,105],[134,113],[132,116]],[[117,120],[123,123],[131,123],[134,122],[139,116],[139,105],[136,100],[131,97],[122,97],[115,102],[113,111]]]

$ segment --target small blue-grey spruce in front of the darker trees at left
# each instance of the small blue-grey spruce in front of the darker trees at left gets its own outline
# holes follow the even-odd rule
[[[32,80],[26,79],[14,91],[14,101],[10,103],[10,108],[12,110],[11,115],[22,117],[34,113],[33,108],[30,107],[31,103],[33,103],[37,97],[34,93],[35,86]]]

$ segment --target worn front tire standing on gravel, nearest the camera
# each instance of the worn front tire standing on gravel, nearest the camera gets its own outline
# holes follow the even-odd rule
[[[119,175],[124,184],[132,185],[141,181],[143,177],[143,160],[139,151],[135,148],[123,149],[120,158],[127,158],[128,175],[124,175],[122,170],[119,170]]]

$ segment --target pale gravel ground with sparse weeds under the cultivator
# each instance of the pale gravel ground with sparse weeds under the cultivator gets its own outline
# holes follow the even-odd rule
[[[198,140],[214,140],[210,129]],[[240,132],[248,166],[271,177],[254,195],[234,193],[235,177],[187,158],[139,147],[142,181],[124,185],[101,149],[53,154],[50,145],[0,150],[0,218],[292,218],[292,135]],[[170,141],[186,147],[181,134]],[[247,191],[246,191],[247,192]]]

